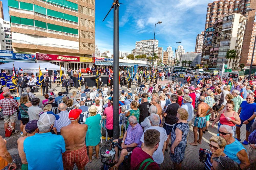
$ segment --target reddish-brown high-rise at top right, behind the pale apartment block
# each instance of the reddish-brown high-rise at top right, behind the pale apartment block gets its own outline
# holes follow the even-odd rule
[[[251,32],[254,23],[255,12],[244,12],[247,8],[256,8],[256,1],[254,0],[220,0],[208,4],[205,31],[207,28],[213,27],[216,17],[226,15],[231,12],[237,12],[244,15],[247,19],[245,34],[243,38],[243,47],[241,51],[240,63],[247,64],[248,51],[250,50]]]

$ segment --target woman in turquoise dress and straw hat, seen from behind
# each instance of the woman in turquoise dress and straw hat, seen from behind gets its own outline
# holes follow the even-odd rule
[[[92,156],[94,158],[99,158],[99,142],[101,137],[100,132],[100,120],[101,115],[97,114],[98,108],[95,105],[92,105],[89,109],[90,117],[88,117],[85,121],[85,124],[88,126],[88,130],[86,133],[86,146],[89,146],[89,162],[92,162]],[[96,154],[92,155],[93,146],[95,146]]]

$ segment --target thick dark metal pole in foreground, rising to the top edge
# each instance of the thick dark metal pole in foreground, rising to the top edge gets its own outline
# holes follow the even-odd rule
[[[114,0],[114,3],[116,0]],[[119,138],[119,6],[114,5],[114,98],[113,98],[113,137]]]

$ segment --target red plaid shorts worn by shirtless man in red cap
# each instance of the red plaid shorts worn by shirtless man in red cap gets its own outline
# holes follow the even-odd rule
[[[62,160],[65,170],[72,170],[74,163],[76,163],[78,169],[83,169],[89,162],[86,145],[81,149],[62,153]]]

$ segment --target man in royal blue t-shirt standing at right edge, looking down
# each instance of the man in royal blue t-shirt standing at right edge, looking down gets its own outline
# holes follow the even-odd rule
[[[250,127],[252,123],[254,122],[255,116],[256,116],[256,103],[254,103],[254,96],[248,95],[246,97],[246,101],[242,101],[239,109],[238,109],[238,114],[240,113],[240,119],[241,119],[241,124],[236,125],[236,134],[237,134],[237,140],[241,141],[240,139],[240,128],[243,124],[246,125],[246,138],[243,141],[242,144],[248,145],[248,136],[250,135]]]

